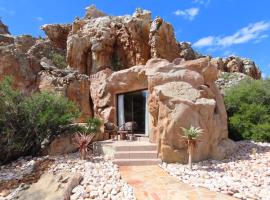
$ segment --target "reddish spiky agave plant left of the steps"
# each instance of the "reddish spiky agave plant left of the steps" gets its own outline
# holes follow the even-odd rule
[[[79,147],[80,157],[82,160],[86,159],[86,155],[89,151],[89,144],[93,142],[95,134],[83,134],[80,132],[75,133],[73,138],[74,144]]]

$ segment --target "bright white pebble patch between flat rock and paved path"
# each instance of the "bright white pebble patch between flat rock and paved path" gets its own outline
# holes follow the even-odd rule
[[[80,160],[79,154],[58,156],[51,172],[79,172],[83,180],[72,190],[71,200],[134,200],[133,189],[121,179],[118,166],[110,159],[94,156]]]

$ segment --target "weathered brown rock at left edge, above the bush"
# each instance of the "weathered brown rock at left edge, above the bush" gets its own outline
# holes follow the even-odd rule
[[[4,76],[12,76],[16,88],[25,94],[35,91],[37,73],[40,71],[40,65],[32,62],[32,58],[27,54],[29,46],[35,39],[29,36],[12,37],[3,42],[0,39],[0,80]]]

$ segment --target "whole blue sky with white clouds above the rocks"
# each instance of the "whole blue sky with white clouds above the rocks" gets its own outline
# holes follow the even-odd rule
[[[47,23],[70,23],[95,4],[110,15],[138,7],[170,22],[179,41],[213,56],[253,59],[270,76],[270,0],[0,0],[0,17],[14,35],[43,35]]]

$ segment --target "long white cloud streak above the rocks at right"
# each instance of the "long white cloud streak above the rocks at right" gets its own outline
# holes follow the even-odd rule
[[[249,24],[246,27],[241,28],[236,31],[233,35],[228,36],[208,36],[199,39],[194,43],[195,47],[230,47],[236,44],[243,44],[250,41],[256,43],[260,42],[262,39],[268,37],[267,34],[263,34],[264,31],[270,29],[270,22],[260,21],[253,24]]]

